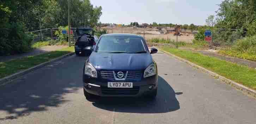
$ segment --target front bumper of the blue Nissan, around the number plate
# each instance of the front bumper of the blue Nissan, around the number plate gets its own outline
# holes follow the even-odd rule
[[[91,78],[89,76],[84,75],[84,90],[88,93],[102,96],[102,97],[139,97],[149,94],[157,89],[158,76],[151,76],[147,78],[142,78],[140,81],[132,81],[132,80],[123,80],[123,81],[115,81],[115,82],[133,82],[133,88],[108,88],[108,82],[113,82],[112,80],[107,79],[97,79]],[[88,88],[88,85],[91,88]],[[149,89],[149,86],[153,86],[152,89]],[[115,94],[111,94],[106,91],[114,91]],[[116,93],[119,92],[120,93]],[[128,92],[126,92],[128,91]],[[133,91],[132,93],[129,91]],[[138,91],[138,92],[135,92]]]

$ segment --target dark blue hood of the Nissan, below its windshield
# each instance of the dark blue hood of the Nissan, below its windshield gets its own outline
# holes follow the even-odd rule
[[[96,70],[145,70],[153,63],[149,53],[98,53],[88,59]]]

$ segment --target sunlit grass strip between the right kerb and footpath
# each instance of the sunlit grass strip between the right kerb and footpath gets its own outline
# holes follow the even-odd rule
[[[163,47],[161,50],[172,53],[192,63],[207,68],[223,77],[256,90],[256,70],[254,68],[237,65],[192,51],[179,50],[170,47]]]

